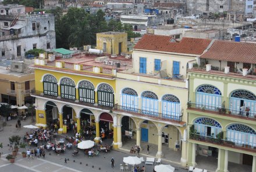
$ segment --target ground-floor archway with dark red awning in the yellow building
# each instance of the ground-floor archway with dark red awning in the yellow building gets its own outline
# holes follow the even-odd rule
[[[113,141],[113,118],[110,114],[103,112],[99,116],[99,133],[102,141],[109,144]]]

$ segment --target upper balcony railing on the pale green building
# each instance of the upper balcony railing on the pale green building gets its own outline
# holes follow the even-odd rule
[[[190,101],[187,103],[188,109],[198,109],[205,112],[216,112],[221,115],[232,115],[238,117],[247,118],[245,111],[240,111],[240,109],[232,109],[221,107],[220,105],[209,105],[202,103],[191,103]],[[249,112],[248,118],[256,119],[256,112]]]

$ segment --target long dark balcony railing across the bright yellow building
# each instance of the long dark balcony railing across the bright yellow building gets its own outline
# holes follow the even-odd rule
[[[64,101],[64,102],[67,102],[67,103],[84,105],[86,107],[94,107],[94,108],[99,108],[99,109],[106,109],[106,110],[109,110],[109,111],[112,110],[112,107],[105,107],[105,106],[98,105],[98,104],[97,105],[96,104],[90,104],[90,103],[85,103],[85,102],[82,102],[82,101],[71,100],[71,99],[67,99],[67,98],[48,96],[48,95],[45,95],[43,92],[38,92],[38,91],[31,92],[31,95],[49,98],[49,101],[58,100],[58,101]]]

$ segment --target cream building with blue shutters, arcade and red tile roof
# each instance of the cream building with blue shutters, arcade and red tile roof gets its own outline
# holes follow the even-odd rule
[[[157,157],[163,157],[163,146],[181,150],[178,163],[186,166],[186,70],[210,42],[195,38],[176,42],[171,36],[161,35],[144,35],[138,41],[133,49],[133,68],[116,76],[113,112],[118,114],[119,147],[124,144],[122,131],[133,130],[136,145],[141,141],[158,145]],[[197,46],[191,49],[193,45]]]

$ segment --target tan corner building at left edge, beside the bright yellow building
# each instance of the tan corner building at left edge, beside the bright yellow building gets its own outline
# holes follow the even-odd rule
[[[20,61],[12,61],[10,68],[0,67],[0,101],[12,105],[32,104],[30,96],[34,89],[34,71]]]

